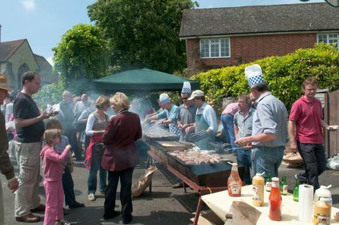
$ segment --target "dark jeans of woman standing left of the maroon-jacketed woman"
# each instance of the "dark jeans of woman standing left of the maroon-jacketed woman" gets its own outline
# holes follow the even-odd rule
[[[99,170],[100,185],[99,190],[105,192],[107,188],[107,171],[101,166],[101,158],[97,157],[95,146],[92,148],[92,166],[90,166],[90,174],[88,174],[88,195],[94,194],[97,190],[97,171]]]

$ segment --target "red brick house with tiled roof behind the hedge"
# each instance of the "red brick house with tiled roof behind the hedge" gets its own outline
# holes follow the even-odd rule
[[[283,56],[316,42],[338,43],[339,9],[326,3],[187,9],[179,37],[186,40],[193,75]]]

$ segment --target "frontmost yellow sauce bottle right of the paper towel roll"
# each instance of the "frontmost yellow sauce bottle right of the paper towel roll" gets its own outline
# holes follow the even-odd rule
[[[331,224],[332,206],[329,201],[328,197],[320,197],[319,201],[314,202],[314,225]]]

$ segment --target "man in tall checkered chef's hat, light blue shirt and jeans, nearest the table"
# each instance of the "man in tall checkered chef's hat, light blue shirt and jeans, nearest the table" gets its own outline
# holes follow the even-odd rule
[[[283,102],[268,91],[263,73],[258,64],[245,68],[251,93],[258,102],[253,116],[252,135],[239,138],[241,146],[253,145],[254,174],[263,173],[278,177],[285,145],[287,143],[287,109]]]

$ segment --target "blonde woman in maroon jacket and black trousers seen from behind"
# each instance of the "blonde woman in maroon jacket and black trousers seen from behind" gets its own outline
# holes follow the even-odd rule
[[[117,113],[108,123],[102,137],[106,145],[101,166],[108,171],[108,186],[105,193],[104,219],[120,214],[114,211],[117,186],[120,178],[121,217],[123,224],[132,220],[131,186],[134,166],[139,163],[135,141],[141,138],[141,123],[137,114],[128,110],[129,99],[117,92],[109,99]]]

